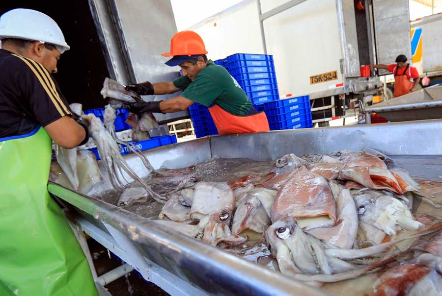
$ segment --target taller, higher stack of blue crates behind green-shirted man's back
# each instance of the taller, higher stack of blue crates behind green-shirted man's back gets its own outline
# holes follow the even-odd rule
[[[278,99],[272,55],[235,53],[227,57],[227,65],[254,105]]]

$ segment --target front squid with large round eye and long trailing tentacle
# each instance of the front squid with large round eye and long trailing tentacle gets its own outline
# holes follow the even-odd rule
[[[434,235],[441,229],[442,223],[438,223],[426,231],[377,246],[345,249],[305,233],[295,219],[285,217],[274,222],[266,230],[265,238],[283,274],[320,285],[356,278],[363,273],[375,271],[394,261],[399,254],[408,251],[391,251],[391,246],[404,240]],[[353,259],[379,256],[384,252],[384,257],[368,266],[352,263]]]

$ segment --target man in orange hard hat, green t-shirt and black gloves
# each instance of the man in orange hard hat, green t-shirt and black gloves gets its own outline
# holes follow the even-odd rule
[[[224,67],[208,60],[201,37],[193,31],[173,35],[172,57],[165,64],[180,66],[183,76],[169,82],[143,82],[130,84],[126,90],[143,95],[166,95],[183,91],[179,96],[163,101],[136,102],[127,108],[132,113],[146,111],[171,113],[186,110],[197,102],[209,107],[220,135],[268,131],[269,123],[264,112],[258,113],[238,82]]]

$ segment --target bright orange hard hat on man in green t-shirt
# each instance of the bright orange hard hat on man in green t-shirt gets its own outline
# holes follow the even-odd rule
[[[162,53],[162,56],[175,55],[203,55],[207,50],[201,36],[193,31],[181,31],[173,35],[170,40],[170,52]]]

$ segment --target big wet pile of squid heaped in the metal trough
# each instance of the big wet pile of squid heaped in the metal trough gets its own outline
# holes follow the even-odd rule
[[[442,293],[442,222],[412,214],[418,183],[376,150],[288,154],[270,172],[181,185],[165,227],[218,247],[260,233],[281,273],[314,286],[385,271],[373,295]]]

